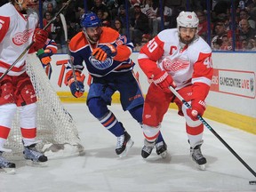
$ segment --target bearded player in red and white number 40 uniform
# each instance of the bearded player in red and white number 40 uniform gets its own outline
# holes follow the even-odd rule
[[[206,158],[201,153],[205,98],[212,80],[212,50],[197,35],[198,18],[195,12],[180,12],[177,28],[165,29],[145,44],[138,58],[140,68],[152,82],[149,85],[143,111],[145,145],[141,156],[147,158],[156,142],[164,114],[171,102],[179,108],[178,114],[186,119],[186,132],[192,159],[204,169]],[[186,108],[169,87],[189,100]]]

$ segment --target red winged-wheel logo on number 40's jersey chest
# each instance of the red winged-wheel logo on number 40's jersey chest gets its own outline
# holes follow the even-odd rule
[[[170,58],[165,58],[162,61],[162,65],[165,71],[167,72],[177,72],[184,68],[188,68],[188,60],[171,60]]]

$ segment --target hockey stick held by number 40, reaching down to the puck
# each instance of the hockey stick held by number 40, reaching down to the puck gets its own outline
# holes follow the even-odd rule
[[[170,86],[169,88],[170,88],[170,90],[172,91],[172,93],[173,93],[179,100],[181,100],[187,108],[191,108],[191,106],[189,105],[189,103],[181,97],[181,95],[179,94],[179,92],[177,92],[172,86]],[[219,140],[220,140],[220,142],[222,142],[222,143],[226,146],[226,148],[228,148],[228,150],[229,150],[234,156],[236,156],[236,158],[237,158],[242,164],[244,164],[244,166],[245,166],[250,172],[252,172],[252,174],[254,175],[254,177],[256,177],[256,172],[254,172],[254,171],[252,170],[252,168],[251,168],[248,164],[246,164],[246,163],[244,162],[244,160],[243,160],[240,156],[238,156],[238,155],[236,154],[236,152],[233,150],[233,148],[231,148],[231,147],[228,145],[228,143],[227,143],[225,140],[223,140],[223,139],[220,137],[220,135],[212,129],[212,126],[211,126],[210,124],[208,124],[208,123],[204,120],[204,118],[203,118],[202,116],[199,116],[199,115],[198,115],[197,118],[198,118],[198,119],[199,119],[199,120],[200,120],[200,121],[201,121],[201,122],[219,139]],[[251,184],[251,185],[252,185],[252,184],[256,184],[256,180],[251,180],[251,181],[249,181],[249,184]]]

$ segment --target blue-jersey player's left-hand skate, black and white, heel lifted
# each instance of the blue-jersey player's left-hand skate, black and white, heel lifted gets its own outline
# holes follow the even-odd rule
[[[119,157],[124,157],[127,155],[130,148],[132,148],[133,140],[131,140],[131,136],[128,132],[124,131],[124,134],[120,137],[117,137],[116,143],[116,154]]]

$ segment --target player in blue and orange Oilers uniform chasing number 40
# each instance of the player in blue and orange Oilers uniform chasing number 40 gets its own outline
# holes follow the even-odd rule
[[[133,141],[121,122],[108,109],[111,96],[120,92],[122,108],[128,110],[141,125],[144,98],[140,86],[133,76],[134,62],[130,59],[133,44],[112,28],[101,27],[100,19],[95,13],[85,13],[81,19],[83,31],[74,36],[69,44],[72,64],[76,72],[68,65],[66,83],[75,97],[84,93],[81,73],[83,61],[92,76],[87,96],[87,106],[109,132],[117,138],[116,155],[126,156]],[[166,156],[166,144],[161,133],[156,142],[156,153]]]

